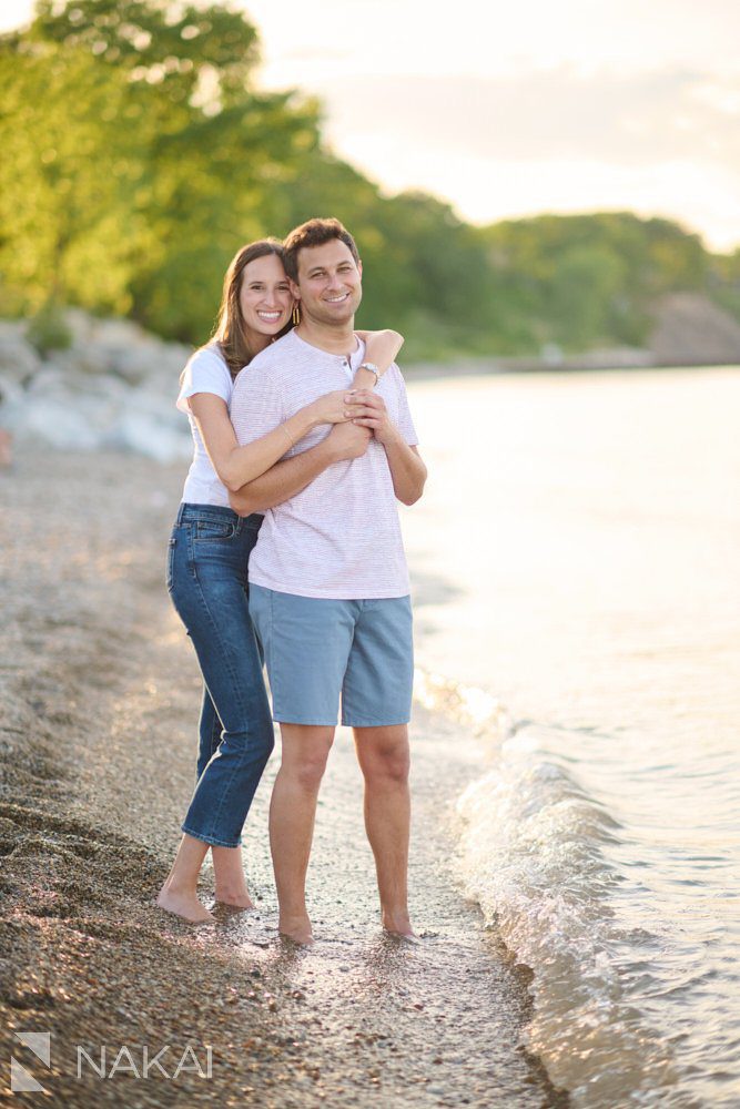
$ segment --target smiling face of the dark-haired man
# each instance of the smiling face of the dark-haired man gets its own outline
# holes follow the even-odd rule
[[[352,319],[363,297],[362,262],[346,243],[332,238],[298,251],[298,281],[291,283],[301,312],[316,323],[342,326]]]

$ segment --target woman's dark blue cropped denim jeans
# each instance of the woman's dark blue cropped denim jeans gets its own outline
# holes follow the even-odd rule
[[[182,831],[219,847],[240,846],[275,742],[246,583],[261,523],[181,505],[168,554],[168,589],[204,682],[197,784]]]

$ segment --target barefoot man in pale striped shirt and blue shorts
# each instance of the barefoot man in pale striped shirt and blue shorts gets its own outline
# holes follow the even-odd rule
[[[364,346],[354,333],[362,263],[336,220],[311,220],[286,242],[298,325],[236,379],[231,417],[241,444],[284,423],[322,394],[349,386]],[[396,498],[422,496],[406,390],[392,366],[354,396],[352,423],[324,425],[293,445],[283,503],[268,509],[250,558],[250,611],[262,642],[283,757],[270,811],[280,930],[311,943],[305,877],[316,800],[342,722],[353,728],[365,779],[365,826],[375,856],[383,926],[413,935],[407,906],[410,802],[408,719],[413,678],[408,571]],[[344,447],[335,461],[333,442]],[[356,457],[347,460],[347,437]],[[295,484],[305,485],[294,495]],[[264,488],[264,476],[254,482]],[[251,487],[237,511],[256,510]],[[278,499],[274,489],[265,500]]]

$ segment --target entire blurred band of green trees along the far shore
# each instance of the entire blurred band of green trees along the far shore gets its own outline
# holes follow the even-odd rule
[[[416,356],[641,345],[665,293],[740,317],[740,251],[668,220],[539,216],[474,227],[384,196],[332,154],[321,105],[255,87],[241,13],[172,0],[40,0],[0,37],[0,313],[60,305],[209,335],[244,242],[336,215],[365,266],[364,326]]]

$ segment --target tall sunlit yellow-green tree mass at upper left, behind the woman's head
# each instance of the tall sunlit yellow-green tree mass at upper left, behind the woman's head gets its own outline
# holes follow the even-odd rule
[[[161,0],[43,0],[0,40],[0,268],[22,307],[203,338],[265,194],[317,143],[313,103],[251,90],[255,59],[241,13]]]

